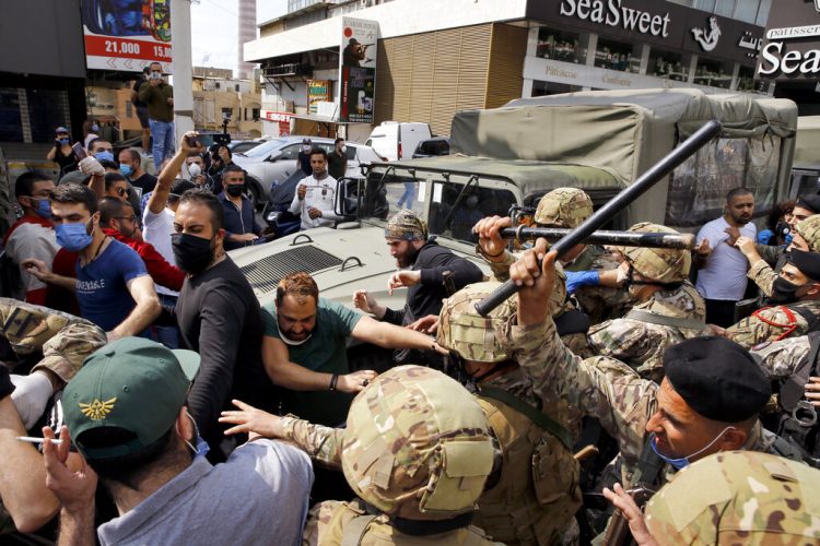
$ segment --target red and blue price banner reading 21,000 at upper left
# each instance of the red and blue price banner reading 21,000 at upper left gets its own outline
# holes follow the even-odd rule
[[[82,0],[82,21],[87,68],[171,73],[171,0]]]

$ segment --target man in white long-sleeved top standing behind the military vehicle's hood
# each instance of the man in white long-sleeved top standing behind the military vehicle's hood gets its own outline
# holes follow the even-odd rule
[[[303,178],[296,186],[290,211],[302,216],[300,230],[313,227],[332,227],[341,216],[333,211],[337,199],[336,178],[327,171],[327,152],[320,147],[311,150],[313,175]]]

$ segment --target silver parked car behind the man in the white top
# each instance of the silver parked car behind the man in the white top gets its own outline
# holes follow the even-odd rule
[[[271,186],[284,181],[295,170],[298,151],[302,147],[302,139],[305,136],[284,136],[281,139],[262,142],[258,146],[233,155],[236,165],[244,168],[254,178],[254,188],[257,191],[258,202],[263,203],[270,197]],[[319,146],[328,153],[333,151],[333,139],[311,138],[314,146]],[[372,147],[348,142],[348,176],[360,175],[359,166],[362,164],[380,163],[385,161]]]

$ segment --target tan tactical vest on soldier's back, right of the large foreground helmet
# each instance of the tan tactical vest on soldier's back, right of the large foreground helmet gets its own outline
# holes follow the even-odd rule
[[[577,462],[522,412],[489,396],[478,401],[503,462],[496,485],[479,498],[476,524],[504,544],[558,544],[581,506]]]

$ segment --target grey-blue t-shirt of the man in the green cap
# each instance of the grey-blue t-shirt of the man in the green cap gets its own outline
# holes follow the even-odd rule
[[[298,545],[312,485],[304,452],[255,440],[216,466],[197,456],[97,536],[103,545]]]

